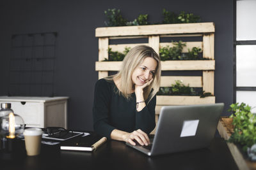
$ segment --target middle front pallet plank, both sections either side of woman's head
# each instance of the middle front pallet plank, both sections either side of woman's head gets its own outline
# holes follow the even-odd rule
[[[97,61],[95,71],[119,71],[122,61]],[[215,60],[166,60],[161,61],[162,71],[214,70]]]

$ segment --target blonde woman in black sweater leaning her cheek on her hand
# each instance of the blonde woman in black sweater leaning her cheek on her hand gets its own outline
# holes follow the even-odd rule
[[[139,45],[125,56],[120,71],[95,84],[93,127],[97,134],[148,145],[156,126],[156,93],[161,62],[153,48]]]

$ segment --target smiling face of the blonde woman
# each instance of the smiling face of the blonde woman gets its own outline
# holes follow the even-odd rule
[[[153,78],[156,67],[157,61],[152,57],[146,57],[140,66],[134,69],[132,73],[132,83],[138,86],[144,85]]]

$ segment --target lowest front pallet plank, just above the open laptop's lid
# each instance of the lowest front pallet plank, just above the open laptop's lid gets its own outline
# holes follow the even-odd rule
[[[210,104],[215,103],[215,97],[204,97],[199,96],[157,96],[157,105],[189,105],[189,104]]]

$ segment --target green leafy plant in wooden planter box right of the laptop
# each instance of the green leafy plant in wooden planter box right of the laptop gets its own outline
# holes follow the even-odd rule
[[[230,117],[221,117],[218,131],[229,143],[228,147],[241,167],[255,167],[250,160],[256,160],[256,115],[245,103],[231,104],[228,111],[233,113]]]

